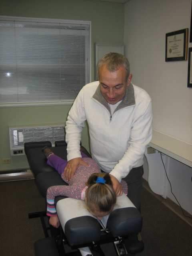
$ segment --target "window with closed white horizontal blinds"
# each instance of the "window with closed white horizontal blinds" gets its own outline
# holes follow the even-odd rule
[[[71,104],[90,82],[90,22],[0,18],[0,106]]]

